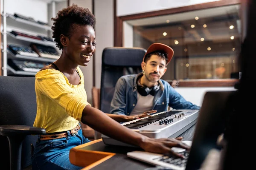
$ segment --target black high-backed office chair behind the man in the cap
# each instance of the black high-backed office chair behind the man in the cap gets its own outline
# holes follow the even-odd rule
[[[123,75],[142,72],[140,66],[146,53],[144,48],[105,48],[102,52],[102,74],[100,87],[99,109],[110,113],[110,103],[113,98],[117,80]],[[95,131],[95,138],[101,138]]]

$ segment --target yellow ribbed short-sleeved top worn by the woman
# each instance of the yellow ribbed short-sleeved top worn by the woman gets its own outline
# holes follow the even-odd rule
[[[79,85],[71,85],[58,70],[46,69],[35,75],[37,114],[34,126],[46,129],[46,133],[63,132],[75,128],[81,120],[87,102],[84,75]]]

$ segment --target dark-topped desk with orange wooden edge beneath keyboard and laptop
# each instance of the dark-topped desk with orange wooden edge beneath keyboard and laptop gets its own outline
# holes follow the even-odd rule
[[[192,141],[195,125],[180,136]],[[141,150],[135,147],[105,145],[102,139],[73,147],[70,150],[70,162],[84,167],[82,170],[145,170],[153,165],[137,161],[126,156],[127,152]]]

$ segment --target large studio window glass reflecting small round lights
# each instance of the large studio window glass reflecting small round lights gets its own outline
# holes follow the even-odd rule
[[[126,21],[134,47],[160,42],[173,48],[165,80],[230,79],[239,71],[240,23],[239,5]]]

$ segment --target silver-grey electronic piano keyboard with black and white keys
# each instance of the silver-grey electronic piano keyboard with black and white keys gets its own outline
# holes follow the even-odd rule
[[[198,110],[172,110],[125,122],[122,125],[154,139],[177,137],[195,124],[198,113]],[[102,135],[102,140],[105,144],[131,146],[105,135]]]

